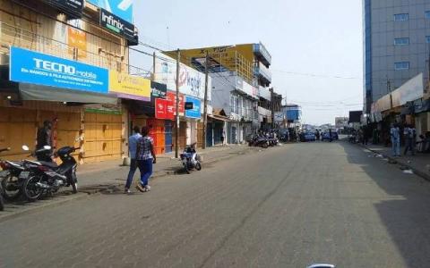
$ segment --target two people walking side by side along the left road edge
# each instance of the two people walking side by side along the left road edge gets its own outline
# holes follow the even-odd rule
[[[154,141],[150,138],[150,129],[143,127],[142,130],[135,126],[133,135],[128,139],[128,149],[130,152],[130,172],[128,172],[127,182],[125,183],[125,193],[131,192],[130,187],[133,183],[133,177],[139,168],[141,180],[137,183],[136,188],[141,192],[150,191],[150,175],[152,174],[152,164],[157,162],[154,151]]]

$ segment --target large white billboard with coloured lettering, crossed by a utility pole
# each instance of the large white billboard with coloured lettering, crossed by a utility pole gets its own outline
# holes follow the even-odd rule
[[[181,63],[179,68],[179,92],[204,99],[205,75]],[[154,80],[176,90],[176,62],[165,54],[156,54]],[[208,80],[208,100],[211,100],[211,77]]]

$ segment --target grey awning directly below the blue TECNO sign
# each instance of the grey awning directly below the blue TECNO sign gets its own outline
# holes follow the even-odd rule
[[[117,98],[97,93],[19,83],[22,100],[116,105]]]

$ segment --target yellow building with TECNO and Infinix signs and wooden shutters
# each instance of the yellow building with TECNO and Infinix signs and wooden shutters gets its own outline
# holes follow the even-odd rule
[[[129,75],[139,72],[128,57],[138,43],[133,4],[112,3],[0,0],[0,147],[12,147],[5,157],[25,157],[20,148],[34,146],[43,121],[53,123],[54,146],[81,147],[81,163],[126,154],[122,100],[148,101],[150,80]]]

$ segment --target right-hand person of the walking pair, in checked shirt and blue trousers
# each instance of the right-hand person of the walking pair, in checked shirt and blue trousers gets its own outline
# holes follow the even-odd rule
[[[142,137],[137,141],[136,160],[139,171],[141,172],[141,181],[137,184],[136,188],[141,192],[150,190],[148,181],[152,174],[152,164],[157,162],[154,152],[154,141],[148,134],[150,129],[148,127],[142,128]]]

